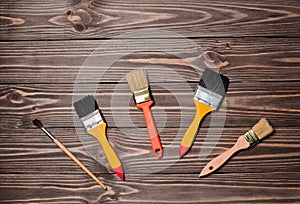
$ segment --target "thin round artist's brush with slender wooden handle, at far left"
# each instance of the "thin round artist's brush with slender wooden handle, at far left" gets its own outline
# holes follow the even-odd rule
[[[54,135],[52,135],[38,119],[34,119],[32,123],[40,128],[66,155],[68,155],[83,171],[85,171],[92,179],[94,179],[101,188],[107,190],[107,187],[86,167],[84,166]]]

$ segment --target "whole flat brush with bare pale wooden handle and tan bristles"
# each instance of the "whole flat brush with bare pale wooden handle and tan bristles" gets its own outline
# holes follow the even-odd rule
[[[226,152],[220,154],[213,160],[211,160],[201,171],[199,177],[206,176],[216,171],[226,161],[230,159],[236,152],[253,147],[260,140],[268,136],[273,132],[272,126],[269,124],[266,118],[260,119],[251,130],[240,136],[233,147],[228,149]]]

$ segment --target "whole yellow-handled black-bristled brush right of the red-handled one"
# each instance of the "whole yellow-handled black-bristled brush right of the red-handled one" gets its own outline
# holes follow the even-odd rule
[[[180,158],[191,148],[204,116],[219,108],[228,86],[229,79],[226,76],[218,74],[211,69],[204,71],[193,99],[196,106],[196,115],[181,140]]]

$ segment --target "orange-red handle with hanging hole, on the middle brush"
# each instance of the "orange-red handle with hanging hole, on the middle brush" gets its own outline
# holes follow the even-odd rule
[[[144,118],[145,118],[146,126],[148,129],[148,135],[150,138],[152,151],[157,158],[161,158],[162,153],[163,153],[163,148],[162,148],[160,138],[158,136],[156,125],[155,125],[155,122],[154,122],[154,119],[152,116],[152,112],[150,109],[152,104],[153,104],[153,100],[150,100],[150,101],[147,101],[144,103],[136,104],[136,107],[139,109],[142,109],[142,111],[144,113]]]

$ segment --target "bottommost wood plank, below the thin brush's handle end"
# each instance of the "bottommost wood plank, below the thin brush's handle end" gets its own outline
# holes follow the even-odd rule
[[[53,203],[297,203],[299,200],[299,180],[285,179],[282,173],[274,173],[273,178],[265,179],[269,173],[247,173],[217,175],[205,181],[194,175],[136,175],[124,182],[111,181],[114,191],[103,192],[99,187],[80,178],[78,175],[64,175],[71,183],[48,177],[35,177],[42,188],[26,188],[20,175],[12,175],[12,185],[4,185],[5,202],[53,202]],[[79,177],[79,178],[78,178]],[[239,179],[235,179],[235,178]],[[60,177],[58,177],[60,178]],[[36,179],[36,180],[35,180]],[[48,185],[45,185],[47,183]],[[81,189],[74,183],[86,183]],[[282,186],[282,184],[284,185]],[[256,185],[256,187],[253,186]],[[169,188],[168,188],[169,187]],[[170,188],[172,190],[170,190]],[[16,189],[16,190],[15,190]],[[16,196],[15,192],[20,192]],[[164,192],[164,193],[161,193]],[[42,196],[41,196],[42,195]],[[54,196],[56,195],[56,196]],[[264,195],[264,196],[262,196]],[[16,197],[13,197],[16,196]],[[19,198],[19,199],[18,199]]]

